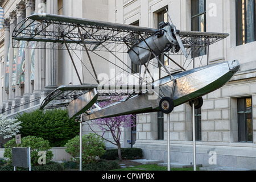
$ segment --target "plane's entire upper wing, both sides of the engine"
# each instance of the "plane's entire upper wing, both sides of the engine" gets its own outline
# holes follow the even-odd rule
[[[156,29],[127,24],[102,22],[53,14],[34,14],[18,23],[13,31],[13,47],[65,49],[65,42],[73,49],[90,51],[127,52],[143,39],[155,34]],[[81,34],[80,34],[81,33]],[[180,31],[187,54],[224,39],[229,34]],[[84,43],[83,43],[84,40]],[[42,43],[43,42],[43,46]],[[48,43],[47,43],[48,42]],[[70,45],[69,45],[70,46]],[[181,53],[177,52],[177,53]]]

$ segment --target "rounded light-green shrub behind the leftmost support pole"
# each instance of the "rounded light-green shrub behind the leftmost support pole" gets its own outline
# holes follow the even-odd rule
[[[73,156],[75,161],[79,162],[79,136],[71,139],[65,144],[66,152]],[[105,151],[105,143],[103,139],[96,134],[88,134],[82,136],[82,163],[88,164],[96,162],[98,156],[104,154]]]

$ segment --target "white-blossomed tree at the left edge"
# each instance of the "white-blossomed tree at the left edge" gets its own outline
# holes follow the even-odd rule
[[[19,133],[19,129],[22,122],[17,119],[7,119],[4,114],[0,114],[0,135],[3,139],[11,138]]]

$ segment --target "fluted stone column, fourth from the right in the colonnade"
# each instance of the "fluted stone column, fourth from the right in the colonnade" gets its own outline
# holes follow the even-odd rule
[[[16,5],[16,22],[17,24],[21,22],[22,19],[25,18],[25,6],[24,5]],[[19,48],[16,48],[16,63],[18,63],[18,55],[19,55]],[[16,69],[17,71],[17,69]],[[18,79],[18,73],[16,72],[16,80]],[[20,98],[24,94],[24,86],[17,85],[15,86],[15,100],[16,104],[20,103]]]

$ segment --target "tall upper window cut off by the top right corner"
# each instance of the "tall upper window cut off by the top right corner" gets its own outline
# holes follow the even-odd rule
[[[237,46],[255,41],[255,1],[236,0]]]

